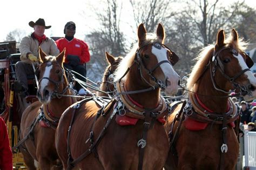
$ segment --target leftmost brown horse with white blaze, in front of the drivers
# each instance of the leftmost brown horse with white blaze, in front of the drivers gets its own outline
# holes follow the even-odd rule
[[[62,167],[55,148],[55,132],[60,115],[71,104],[73,94],[63,67],[65,50],[57,57],[46,56],[39,47],[39,59],[42,64],[36,70],[38,78],[37,98],[39,101],[27,107],[21,119],[21,151],[29,169],[36,169],[34,160],[40,169]]]

